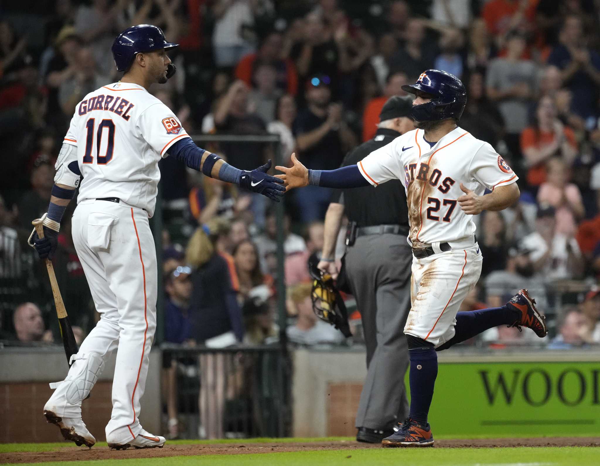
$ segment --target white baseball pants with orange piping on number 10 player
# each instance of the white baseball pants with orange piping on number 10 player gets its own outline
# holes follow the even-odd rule
[[[101,314],[78,355],[96,353],[106,360],[118,347],[106,440],[127,443],[142,429],[140,398],[156,328],[157,263],[148,214],[116,202],[86,199],[73,214],[73,243]],[[88,360],[75,360],[65,380],[85,378],[82,365]],[[56,407],[59,416],[81,416],[85,397],[67,396],[65,401],[64,392],[59,387],[46,406]]]

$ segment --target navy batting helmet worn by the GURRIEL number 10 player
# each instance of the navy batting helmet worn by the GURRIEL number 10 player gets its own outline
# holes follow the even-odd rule
[[[161,49],[168,50],[174,47],[179,47],[179,44],[167,42],[163,31],[157,26],[139,24],[125,29],[116,37],[112,52],[117,71],[125,71],[137,53],[154,52],[154,50]],[[173,71],[170,67],[171,65],[169,65],[167,77],[175,74],[175,65],[173,65]]]

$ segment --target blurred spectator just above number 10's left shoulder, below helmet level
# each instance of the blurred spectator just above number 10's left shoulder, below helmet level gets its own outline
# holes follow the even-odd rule
[[[89,92],[110,83],[110,78],[98,73],[98,65],[91,47],[77,50],[77,71],[58,88],[58,102],[62,112],[72,116],[75,107]]]

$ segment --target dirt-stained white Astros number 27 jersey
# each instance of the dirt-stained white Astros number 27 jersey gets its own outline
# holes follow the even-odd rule
[[[413,245],[454,241],[475,233],[472,216],[457,199],[460,183],[483,195],[485,188],[518,180],[490,144],[456,128],[433,147],[423,130],[413,130],[373,151],[358,163],[369,183],[403,180],[409,208],[409,240]]]

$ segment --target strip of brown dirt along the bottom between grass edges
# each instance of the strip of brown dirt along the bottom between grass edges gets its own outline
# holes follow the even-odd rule
[[[600,438],[548,437],[548,438],[490,438],[478,440],[437,440],[438,448],[484,447],[600,447]],[[75,449],[65,447],[55,452],[18,452],[0,455],[0,462],[34,463],[45,461],[81,461],[90,459],[163,458],[167,456],[236,455],[243,453],[304,452],[308,450],[347,450],[380,448],[379,444],[355,441],[329,441],[321,443],[248,443],[166,445],[162,449],[109,450],[108,447]]]

